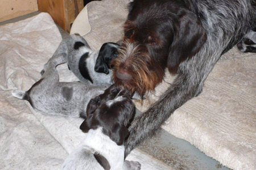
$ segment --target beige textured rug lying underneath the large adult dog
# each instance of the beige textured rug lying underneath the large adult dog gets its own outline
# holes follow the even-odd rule
[[[98,49],[104,41],[118,41],[129,1],[94,1],[88,4],[93,29],[85,35]],[[112,12],[109,12],[109,9]],[[73,30],[75,31],[75,30]],[[168,74],[152,94],[145,111],[170,86]],[[209,74],[202,94],[188,101],[162,126],[178,138],[192,143],[208,156],[232,169],[256,169],[256,55],[233,48],[224,54]]]

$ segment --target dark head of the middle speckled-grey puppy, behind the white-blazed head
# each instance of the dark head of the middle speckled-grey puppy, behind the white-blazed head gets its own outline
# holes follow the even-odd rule
[[[93,112],[106,101],[113,100],[115,96],[119,93],[120,88],[116,87],[114,84],[107,88],[104,91],[104,94],[98,95],[91,99],[87,105],[86,108],[86,114],[89,116],[90,114],[93,114]]]

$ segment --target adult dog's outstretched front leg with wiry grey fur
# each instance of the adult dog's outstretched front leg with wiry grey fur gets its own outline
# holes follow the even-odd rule
[[[130,135],[126,141],[126,156],[133,148],[154,135],[156,130],[177,108],[200,94],[206,78],[205,74],[208,75],[208,72],[201,73],[199,76],[195,76],[193,72],[180,73],[160,99],[148,111],[135,118],[129,128]]]

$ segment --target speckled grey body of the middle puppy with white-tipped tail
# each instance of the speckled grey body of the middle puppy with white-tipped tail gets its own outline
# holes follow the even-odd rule
[[[27,100],[40,113],[50,116],[86,117],[86,107],[92,97],[108,86],[91,86],[80,82],[59,82],[56,63],[44,65],[44,74],[28,91],[14,90],[14,97]]]

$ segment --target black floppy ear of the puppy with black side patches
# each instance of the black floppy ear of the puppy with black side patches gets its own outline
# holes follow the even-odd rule
[[[94,71],[109,74],[108,65],[104,60],[106,45],[107,43],[101,46],[100,52],[98,53],[98,58],[96,59],[96,64],[94,66]]]

